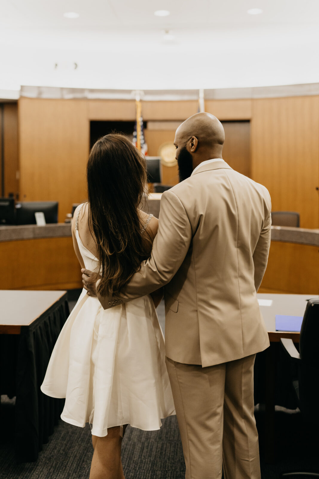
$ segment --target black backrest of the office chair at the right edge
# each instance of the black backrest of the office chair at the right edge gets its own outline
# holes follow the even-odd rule
[[[319,298],[309,299],[299,340],[300,410],[309,423],[319,425]]]

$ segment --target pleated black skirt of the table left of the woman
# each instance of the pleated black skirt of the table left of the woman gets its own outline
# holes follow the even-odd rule
[[[22,326],[20,335],[0,335],[0,392],[16,396],[15,451],[20,462],[37,460],[64,407],[65,399],[46,396],[40,386],[68,315],[65,294],[30,326]]]

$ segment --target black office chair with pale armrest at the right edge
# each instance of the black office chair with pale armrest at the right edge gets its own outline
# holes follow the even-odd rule
[[[293,381],[303,420],[319,429],[319,298],[309,299],[302,320],[299,353],[292,339],[281,338],[291,361],[298,365],[298,380]],[[282,478],[319,478],[319,471],[284,472]]]

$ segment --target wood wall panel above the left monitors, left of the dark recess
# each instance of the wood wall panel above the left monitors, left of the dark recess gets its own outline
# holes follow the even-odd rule
[[[87,197],[86,100],[19,100],[22,201],[59,201],[59,222]]]

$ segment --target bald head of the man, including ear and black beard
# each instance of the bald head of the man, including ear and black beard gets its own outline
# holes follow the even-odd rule
[[[202,161],[222,158],[224,128],[216,116],[197,113],[178,126],[175,134],[180,181],[188,178]]]

